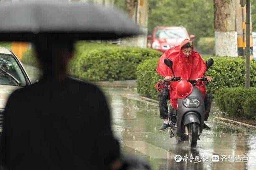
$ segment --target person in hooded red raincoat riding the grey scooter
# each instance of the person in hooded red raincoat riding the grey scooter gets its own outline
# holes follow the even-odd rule
[[[203,61],[199,53],[193,50],[193,43],[188,39],[185,39],[179,46],[175,46],[167,50],[159,58],[156,72],[161,76],[170,79],[171,77],[174,77],[174,75],[172,74],[171,69],[164,63],[165,58],[168,58],[173,62],[172,69],[175,77],[181,77],[185,80],[196,80],[197,78],[204,77],[204,73],[207,71],[206,63]],[[210,77],[207,77],[207,79],[209,81],[212,80]],[[167,123],[168,109],[166,100],[170,99],[171,106],[174,109],[177,109],[178,96],[175,90],[177,83],[177,81],[173,81],[170,83],[169,88],[164,88],[160,91],[160,117],[161,119],[165,119],[160,131],[165,130],[169,126],[169,123]],[[204,82],[200,81],[197,83],[196,87],[202,92],[203,96],[205,96],[206,87]]]

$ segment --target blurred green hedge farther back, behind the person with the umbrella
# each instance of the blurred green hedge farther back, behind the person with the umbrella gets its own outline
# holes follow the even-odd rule
[[[80,41],[75,45],[75,57],[69,63],[68,72],[87,81],[136,79],[138,64],[156,56],[160,57],[161,53],[152,49]],[[32,50],[24,54],[22,62],[38,66]]]

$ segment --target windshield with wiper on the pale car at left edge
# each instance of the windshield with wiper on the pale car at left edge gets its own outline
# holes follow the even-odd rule
[[[24,74],[12,55],[0,54],[0,84],[13,86],[26,85]]]

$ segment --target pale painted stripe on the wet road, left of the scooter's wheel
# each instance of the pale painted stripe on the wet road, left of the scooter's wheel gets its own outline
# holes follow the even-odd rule
[[[144,141],[121,141],[122,145],[133,148],[135,151],[153,159],[174,159],[174,154],[165,149],[151,145]]]

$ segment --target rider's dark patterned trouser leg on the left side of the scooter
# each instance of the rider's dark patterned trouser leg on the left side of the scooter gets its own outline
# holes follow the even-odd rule
[[[161,119],[168,119],[168,106],[166,101],[167,99],[169,99],[169,90],[167,89],[167,87],[165,87],[162,91],[160,91],[158,95]]]

